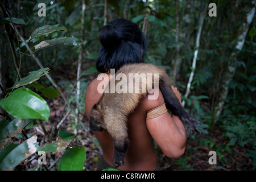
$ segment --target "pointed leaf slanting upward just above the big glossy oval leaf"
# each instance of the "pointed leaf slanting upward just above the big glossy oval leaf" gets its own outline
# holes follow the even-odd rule
[[[19,88],[20,86],[31,84],[32,82],[39,80],[40,77],[46,75],[49,72],[49,68],[42,68],[38,71],[32,71],[28,76],[22,78],[16,82],[12,88]]]

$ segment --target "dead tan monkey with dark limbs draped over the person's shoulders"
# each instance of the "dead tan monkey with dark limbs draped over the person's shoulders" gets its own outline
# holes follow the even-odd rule
[[[129,114],[133,113],[139,102],[146,97],[150,90],[158,90],[158,88],[156,88],[158,85],[163,94],[167,109],[180,118],[185,129],[191,130],[191,134],[195,131],[201,133],[196,126],[201,123],[192,118],[191,115],[183,109],[178,98],[175,96],[175,93],[172,91],[168,75],[162,67],[145,63],[123,65],[123,67],[119,68],[117,73],[115,73],[115,76],[112,77],[112,79],[115,80],[114,86],[117,86],[118,84],[121,85],[121,79],[119,79],[119,81],[116,78],[118,73],[125,74],[127,78],[129,78],[129,73],[133,73],[133,80],[131,81],[129,79],[127,84],[122,84],[122,89],[127,90],[127,93],[111,93],[110,80],[110,86],[106,86],[108,92],[102,94],[100,100],[92,107],[90,112],[90,130],[102,131],[103,129],[106,129],[113,137],[114,167],[122,166],[124,164],[123,159],[129,148],[129,136],[127,131],[127,118]],[[151,74],[152,77],[147,77],[148,74]],[[159,81],[158,84],[156,81]],[[132,90],[135,88],[135,90],[133,90],[134,92],[128,92],[130,88],[132,88]]]

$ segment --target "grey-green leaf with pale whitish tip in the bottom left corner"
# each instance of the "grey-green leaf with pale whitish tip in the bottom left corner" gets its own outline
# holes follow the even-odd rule
[[[9,146],[0,152],[2,159],[0,161],[0,170],[11,171],[24,159],[27,159],[30,155],[38,151],[39,146],[36,140],[37,137],[34,135],[18,146],[9,144]]]

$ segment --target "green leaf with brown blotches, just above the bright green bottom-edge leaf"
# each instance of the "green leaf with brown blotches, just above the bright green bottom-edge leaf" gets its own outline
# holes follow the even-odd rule
[[[69,133],[65,130],[60,130],[58,139],[55,142],[46,144],[44,147],[41,147],[40,150],[53,153],[61,152],[68,147],[74,138],[75,136],[72,133]]]

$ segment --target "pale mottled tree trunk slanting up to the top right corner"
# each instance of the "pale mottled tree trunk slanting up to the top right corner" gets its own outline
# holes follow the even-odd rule
[[[255,14],[255,1],[253,1],[252,3],[254,6],[249,10],[249,13],[247,13],[246,21],[242,24],[242,27],[240,28],[240,36],[238,36],[237,39],[236,50],[230,55],[228,61],[228,69],[226,69],[224,76],[222,77],[223,79],[221,82],[220,97],[218,98],[217,106],[214,107],[215,122],[217,121],[218,117],[222,112],[226,97],[228,96],[230,81],[232,81],[234,74],[236,73],[236,66],[233,64],[233,62],[237,60],[238,53],[240,53],[240,51],[242,50],[247,31],[249,30],[251,21],[253,20],[253,16]]]

